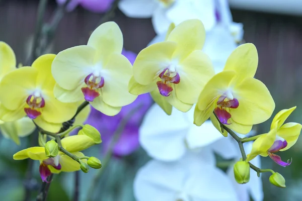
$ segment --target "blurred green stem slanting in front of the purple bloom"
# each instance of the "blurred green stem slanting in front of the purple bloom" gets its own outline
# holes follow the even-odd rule
[[[138,105],[135,109],[133,109],[132,111],[130,111],[126,117],[121,121],[121,123],[119,124],[118,128],[116,129],[116,131],[113,134],[112,140],[109,144],[108,150],[107,150],[107,154],[104,157],[104,160],[102,161],[102,168],[98,170],[98,172],[95,174],[90,188],[89,188],[89,192],[87,195],[87,200],[92,200],[93,199],[93,192],[96,191],[97,187],[98,187],[98,181],[100,180],[105,168],[108,166],[112,153],[113,153],[113,148],[114,145],[116,144],[117,140],[119,139],[120,135],[122,134],[129,118],[131,116],[133,116],[138,110],[140,110],[140,108],[142,107],[142,105]]]

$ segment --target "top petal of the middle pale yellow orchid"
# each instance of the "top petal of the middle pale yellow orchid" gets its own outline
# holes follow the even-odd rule
[[[186,20],[176,26],[167,41],[177,43],[173,58],[183,60],[194,50],[201,50],[205,41],[205,30],[200,20]]]

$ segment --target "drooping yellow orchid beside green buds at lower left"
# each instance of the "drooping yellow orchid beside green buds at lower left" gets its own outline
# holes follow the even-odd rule
[[[80,152],[95,144],[94,140],[86,135],[68,136],[61,140],[62,147],[71,154],[78,156],[79,158],[85,155]],[[51,173],[73,172],[80,170],[79,162],[73,160],[63,152],[59,151],[59,154],[54,158],[48,158],[45,155],[44,147],[30,147],[21,150],[14,154],[15,160],[23,160],[30,158],[32,160],[39,160],[40,163],[40,176],[43,181],[46,181],[47,176]],[[86,160],[82,160],[85,162]]]

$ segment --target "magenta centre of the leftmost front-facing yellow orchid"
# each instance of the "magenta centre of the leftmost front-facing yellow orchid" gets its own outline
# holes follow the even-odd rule
[[[36,119],[40,116],[41,108],[45,107],[45,100],[38,91],[29,95],[26,98],[26,103],[29,107],[24,108],[24,111],[30,119]]]

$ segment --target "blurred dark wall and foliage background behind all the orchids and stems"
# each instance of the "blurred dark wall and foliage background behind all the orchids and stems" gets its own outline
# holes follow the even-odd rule
[[[26,63],[33,40],[37,16],[37,0],[0,0],[0,40],[8,43],[16,53],[17,63]],[[250,3],[249,3],[250,2]],[[251,3],[253,2],[253,3]],[[302,1],[240,1],[232,0],[231,11],[234,22],[244,25],[244,39],[254,43],[259,54],[256,77],[269,88],[276,109],[297,106],[289,121],[301,123],[302,120]],[[261,5],[263,3],[263,5]],[[252,6],[251,6],[252,5]],[[253,6],[254,5],[254,6]],[[291,5],[291,6],[290,6]],[[55,1],[47,4],[45,21],[48,22],[57,8]],[[58,53],[68,47],[84,45],[90,33],[102,23],[104,14],[96,14],[78,7],[65,13],[58,24],[54,40],[48,52]],[[104,19],[103,19],[104,20]],[[118,9],[110,16],[121,28],[124,35],[124,48],[134,53],[152,40],[156,33],[150,19],[127,18]],[[273,117],[272,116],[272,117]],[[270,120],[257,127],[259,133],[266,132]],[[32,189],[34,199],[40,188],[38,163],[34,164],[28,175],[28,160],[14,161],[12,155],[28,147],[29,136],[16,145],[0,135],[0,194],[1,200],[24,200],[25,187]],[[86,154],[101,154],[94,147]],[[292,158],[292,164],[283,168],[268,158],[262,158],[262,167],[271,168],[286,178],[286,188],[280,189],[269,183],[269,174],[263,174],[264,200],[302,200],[302,140],[288,151],[281,152],[284,159]],[[94,183],[97,194],[95,200],[134,200],[132,181],[137,169],[149,157],[140,148],[126,157],[114,157],[105,169],[101,180]],[[81,199],[87,197],[95,170],[89,174],[80,173]],[[71,200],[75,173],[62,173],[50,185],[47,200]],[[57,179],[59,177],[59,179]],[[103,197],[103,199],[102,199]],[[106,198],[104,198],[106,197]],[[29,199],[30,200],[30,199]]]

